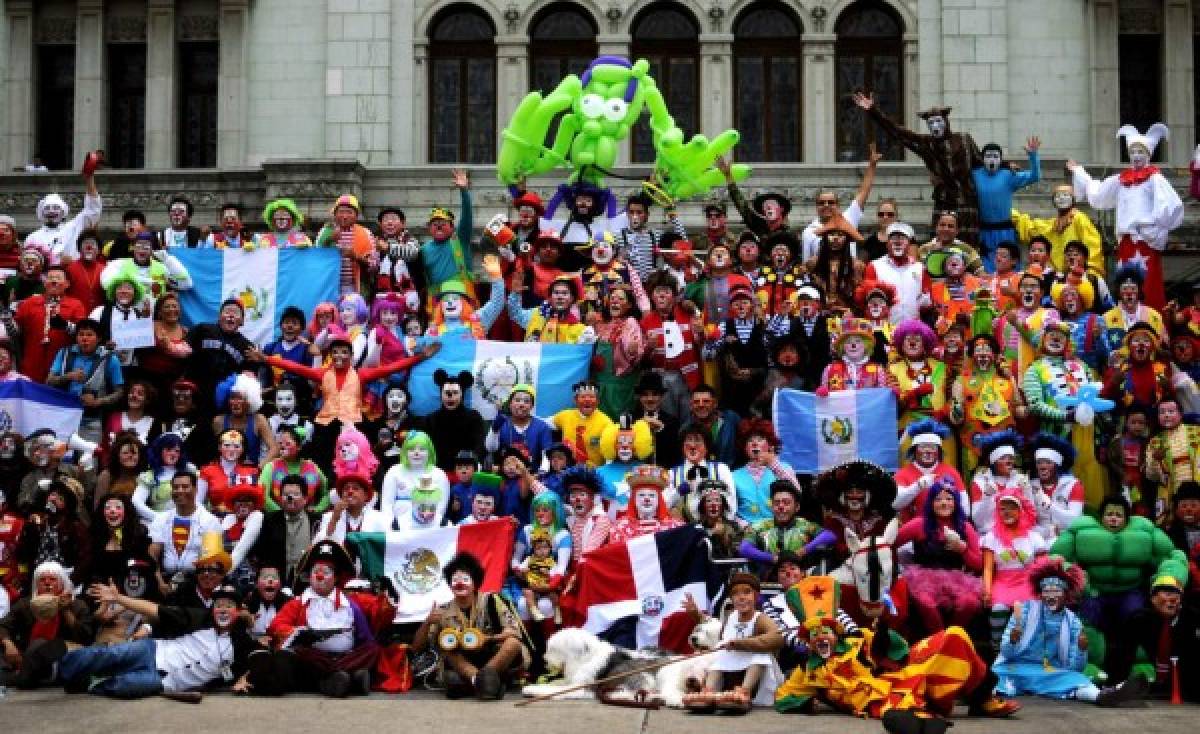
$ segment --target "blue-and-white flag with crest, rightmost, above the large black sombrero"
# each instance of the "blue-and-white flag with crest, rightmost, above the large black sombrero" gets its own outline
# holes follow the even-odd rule
[[[887,387],[839,390],[817,397],[775,392],[775,434],[781,458],[800,474],[818,474],[856,458],[899,469],[896,399]]]

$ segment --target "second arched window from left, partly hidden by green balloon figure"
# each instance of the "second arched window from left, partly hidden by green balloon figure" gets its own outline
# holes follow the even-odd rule
[[[582,74],[596,56],[596,25],[569,2],[544,8],[529,26],[529,89],[548,94],[563,77]]]

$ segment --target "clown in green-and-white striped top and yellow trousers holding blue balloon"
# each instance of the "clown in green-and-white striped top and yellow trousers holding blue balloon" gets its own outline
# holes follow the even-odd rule
[[[1087,492],[1087,506],[1094,507],[1108,487],[1108,476],[1096,461],[1094,408],[1060,407],[1060,401],[1080,395],[1092,383],[1093,373],[1087,365],[1070,356],[1070,336],[1068,324],[1044,327],[1039,356],[1025,371],[1021,390],[1042,429],[1069,438],[1075,446],[1076,475]]]

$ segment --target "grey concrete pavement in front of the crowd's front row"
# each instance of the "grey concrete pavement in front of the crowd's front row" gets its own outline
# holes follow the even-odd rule
[[[520,732],[552,734],[878,734],[877,721],[860,721],[823,710],[817,716],[782,716],[756,710],[749,716],[694,716],[683,711],[642,711],[594,702],[563,702],[516,708],[500,703],[448,702],[428,692],[373,694],[367,699],[205,697],[199,705],[162,698],[118,702],[61,691],[17,693],[0,699],[0,732],[72,734],[179,732],[184,734],[259,734],[325,732]],[[1008,721],[955,718],[953,734],[1172,734],[1196,730],[1200,706],[1153,703],[1146,709],[1104,710],[1074,702],[1022,699],[1025,709]]]

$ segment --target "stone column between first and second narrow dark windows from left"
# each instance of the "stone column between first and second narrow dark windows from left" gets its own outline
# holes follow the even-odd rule
[[[104,4],[103,0],[79,0],[76,17],[76,101],[74,152],[102,149],[108,127],[104,89]]]

